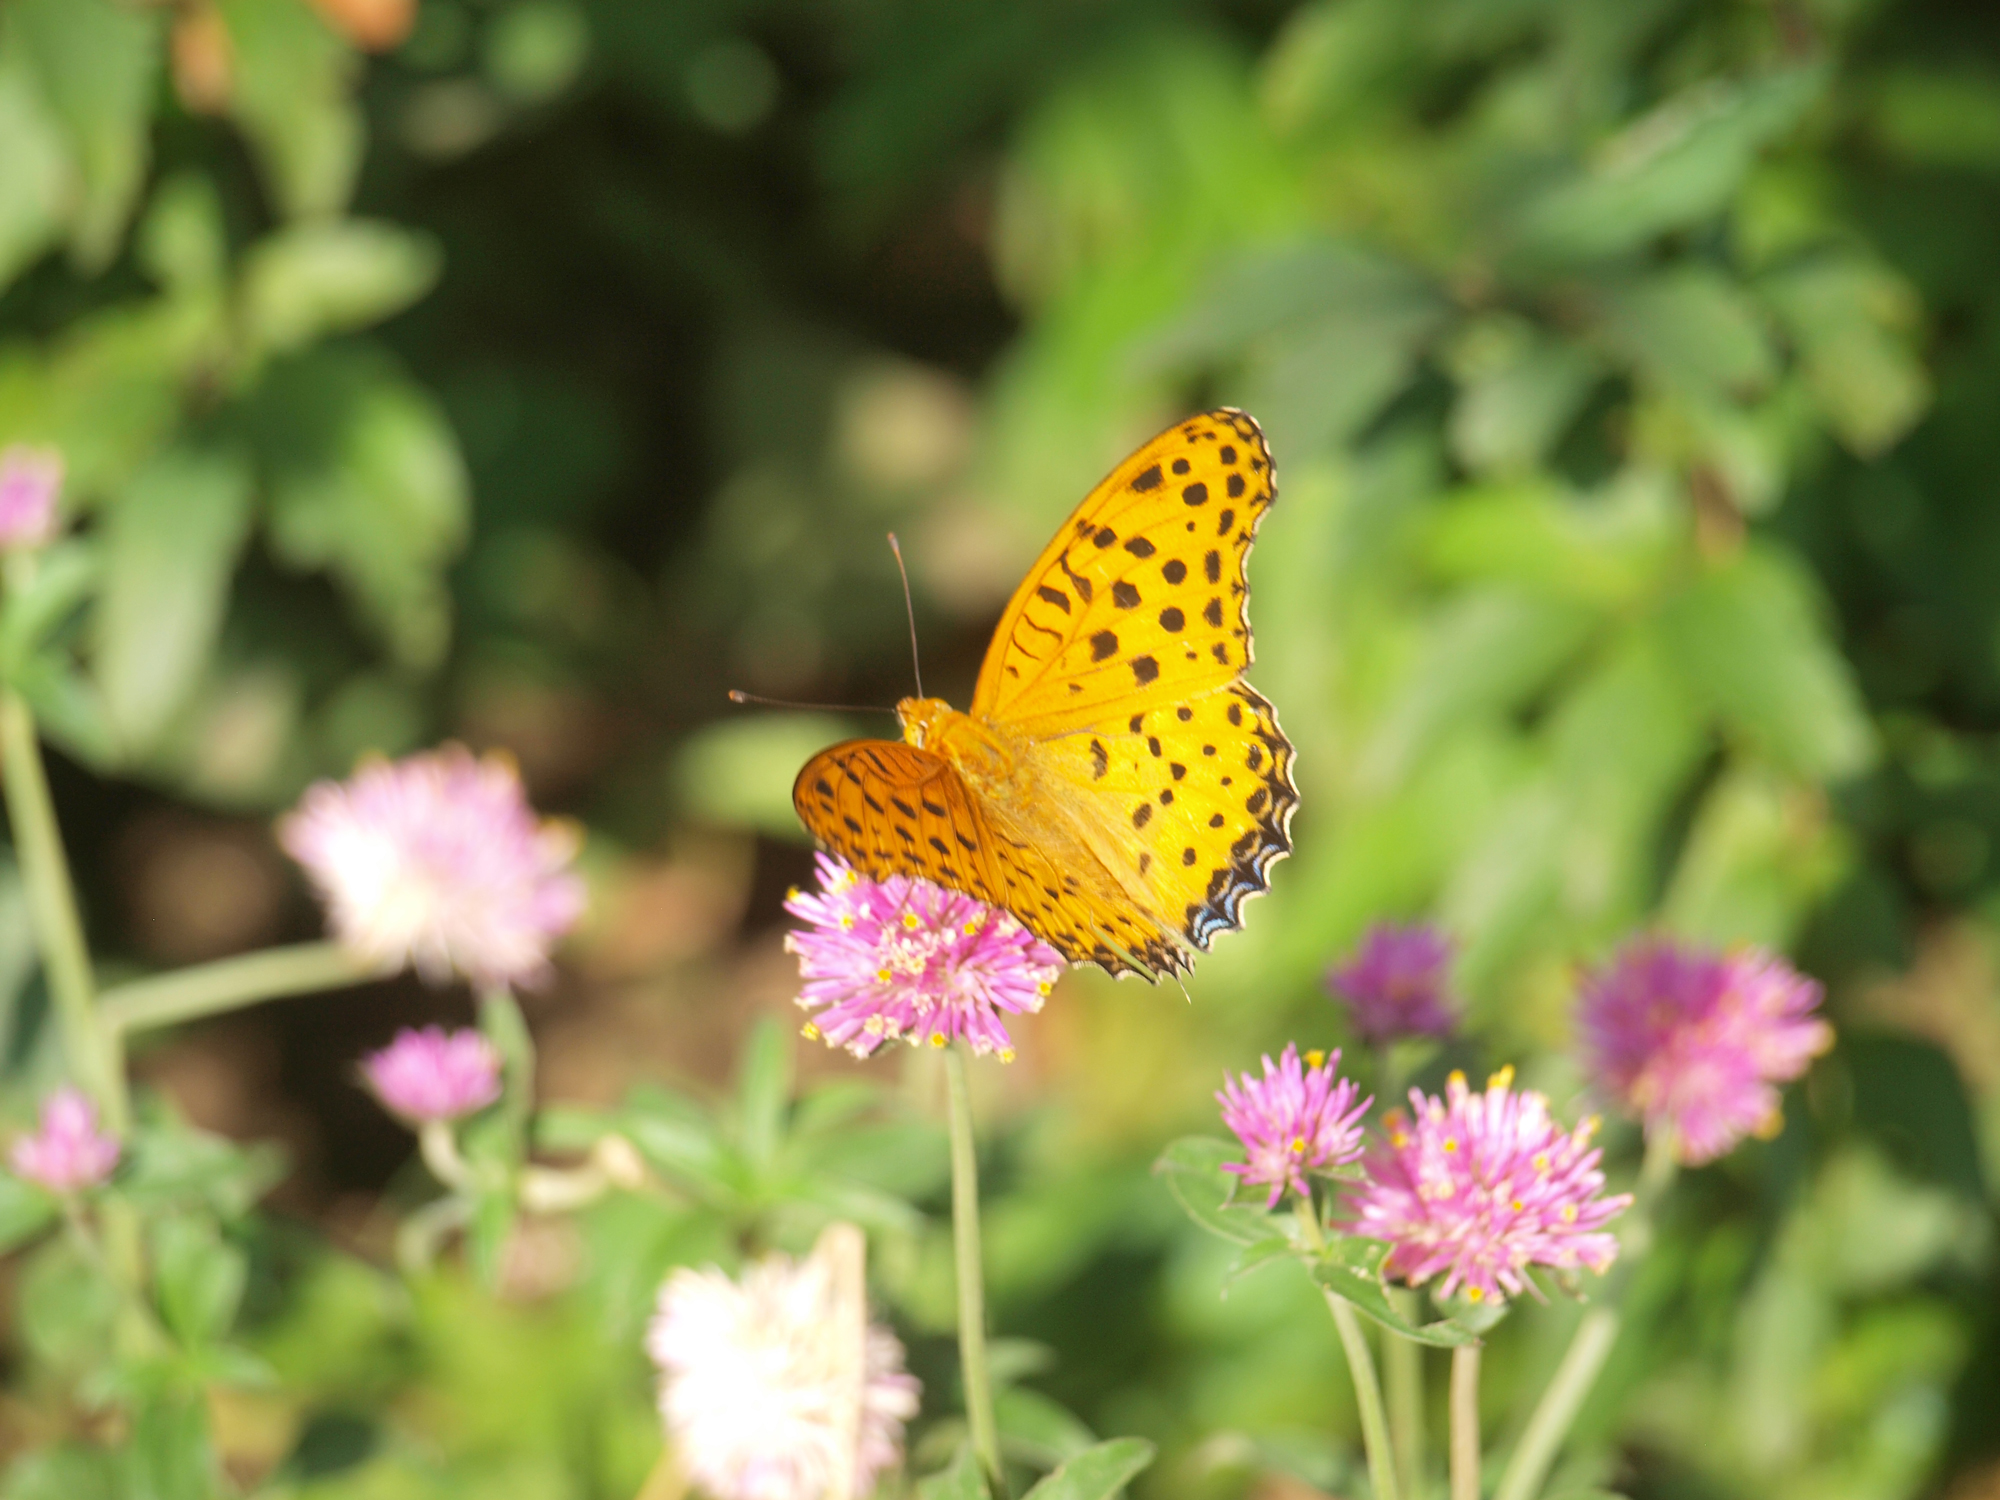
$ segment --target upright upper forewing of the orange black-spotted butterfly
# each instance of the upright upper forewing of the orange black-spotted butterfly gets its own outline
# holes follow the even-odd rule
[[[1244,558],[1272,494],[1264,434],[1230,408],[1126,458],[1014,592],[972,716],[1048,736],[1240,678]]]

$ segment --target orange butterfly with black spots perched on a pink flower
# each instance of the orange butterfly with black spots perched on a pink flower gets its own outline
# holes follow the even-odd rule
[[[994,630],[972,712],[896,704],[792,804],[860,872],[1012,912],[1074,964],[1192,968],[1292,848],[1292,742],[1246,680],[1244,560],[1276,482],[1234,408],[1176,422],[1042,550]]]

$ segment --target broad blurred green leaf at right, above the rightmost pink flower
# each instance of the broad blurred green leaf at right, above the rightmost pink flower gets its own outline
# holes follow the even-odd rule
[[[1726,732],[1824,782],[1864,770],[1874,728],[1804,572],[1752,546],[1708,570],[1660,620],[1688,688]]]

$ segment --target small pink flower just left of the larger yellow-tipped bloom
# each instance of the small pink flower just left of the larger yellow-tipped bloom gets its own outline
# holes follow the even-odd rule
[[[1336,1078],[1340,1048],[1324,1058],[1308,1052],[1300,1062],[1298,1048],[1286,1046],[1274,1064],[1264,1056],[1264,1076],[1242,1074],[1226,1080],[1216,1094],[1222,1104],[1222,1124],[1236,1132],[1248,1152],[1248,1162],[1226,1162],[1248,1186],[1270,1186],[1266,1208],[1276,1208],[1286,1188],[1300,1196],[1310,1192],[1308,1172],[1352,1162],[1362,1154],[1360,1120],[1372,1098],[1356,1102],[1354,1080]]]

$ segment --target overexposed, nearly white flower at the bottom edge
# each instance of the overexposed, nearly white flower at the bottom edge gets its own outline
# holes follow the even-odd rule
[[[870,1324],[844,1370],[834,1280],[818,1256],[770,1256],[732,1280],[676,1270],[646,1334],[660,1414],[686,1476],[714,1500],[820,1500],[852,1466],[854,1494],[902,1458],[918,1382]],[[860,1430],[848,1426],[860,1378]],[[852,1444],[852,1448],[848,1446]]]

